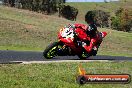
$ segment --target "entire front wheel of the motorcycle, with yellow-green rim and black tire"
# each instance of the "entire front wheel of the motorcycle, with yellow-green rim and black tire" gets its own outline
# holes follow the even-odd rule
[[[58,48],[59,42],[53,42],[51,43],[43,52],[43,56],[46,59],[51,59],[57,55],[57,48]]]

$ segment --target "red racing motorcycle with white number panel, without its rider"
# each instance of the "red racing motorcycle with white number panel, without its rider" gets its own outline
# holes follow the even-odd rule
[[[72,26],[60,29],[58,33],[59,41],[51,43],[43,52],[46,59],[51,59],[55,56],[75,56],[80,59],[86,59],[94,54],[89,54],[82,47],[83,41],[78,38],[78,31]],[[97,43],[101,44],[102,39],[107,35],[106,32],[99,32],[100,40]],[[94,49],[93,49],[94,50]],[[95,55],[94,55],[95,56]]]

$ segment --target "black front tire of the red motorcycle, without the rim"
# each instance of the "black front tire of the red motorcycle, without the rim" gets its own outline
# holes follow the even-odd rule
[[[51,43],[49,46],[46,47],[46,49],[44,50],[43,52],[43,56],[46,58],[46,59],[51,59],[53,58],[55,55],[53,56],[48,56],[48,53],[50,52],[50,50],[52,50],[55,46],[57,46],[59,44],[59,42],[53,42]],[[57,53],[55,51],[55,53]]]

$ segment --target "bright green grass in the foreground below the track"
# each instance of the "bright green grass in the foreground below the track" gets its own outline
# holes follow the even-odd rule
[[[76,83],[80,63],[1,64],[1,88],[131,88],[130,84]],[[82,62],[89,74],[130,74],[131,62]]]

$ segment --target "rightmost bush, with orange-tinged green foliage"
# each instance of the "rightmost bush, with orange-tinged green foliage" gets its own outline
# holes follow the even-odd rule
[[[129,32],[132,29],[132,11],[120,8],[115,12],[115,17],[111,18],[111,27],[118,31]]]

